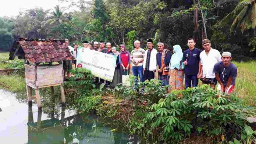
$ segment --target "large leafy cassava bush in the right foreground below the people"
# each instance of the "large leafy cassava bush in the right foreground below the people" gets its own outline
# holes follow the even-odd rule
[[[191,133],[231,140],[241,132],[247,116],[256,115],[255,108],[242,107],[235,95],[219,93],[207,85],[183,90],[180,97],[174,93],[165,97],[151,105],[143,119],[150,125],[148,134],[161,133],[165,141],[181,140]]]

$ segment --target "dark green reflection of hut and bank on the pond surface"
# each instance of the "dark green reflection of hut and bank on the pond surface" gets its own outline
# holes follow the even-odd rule
[[[112,132],[96,115],[73,115],[65,118],[65,106],[61,107],[61,119],[41,120],[38,109],[37,122],[33,122],[32,108],[28,107],[28,144],[127,144],[128,135]]]

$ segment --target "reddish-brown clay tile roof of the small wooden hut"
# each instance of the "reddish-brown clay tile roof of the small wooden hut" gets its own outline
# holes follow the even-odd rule
[[[55,39],[18,39],[29,62],[72,60],[68,46]]]

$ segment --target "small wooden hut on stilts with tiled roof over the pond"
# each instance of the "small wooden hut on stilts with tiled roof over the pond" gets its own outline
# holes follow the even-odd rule
[[[28,103],[32,105],[32,89],[35,89],[38,108],[41,108],[39,89],[60,86],[61,102],[65,102],[63,89],[63,60],[72,60],[68,45],[64,40],[55,39],[23,39],[19,38],[13,44],[10,59],[19,52],[20,58],[25,58],[25,78]],[[22,53],[25,55],[21,57]],[[18,54],[17,54],[18,55]]]

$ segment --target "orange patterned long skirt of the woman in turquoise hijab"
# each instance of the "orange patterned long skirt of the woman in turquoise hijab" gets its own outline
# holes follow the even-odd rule
[[[178,69],[170,70],[169,90],[183,90],[184,71]]]

